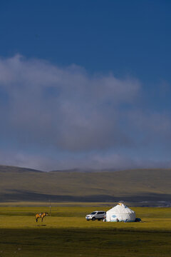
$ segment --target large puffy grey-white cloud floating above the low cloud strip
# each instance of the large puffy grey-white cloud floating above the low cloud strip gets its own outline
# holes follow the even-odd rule
[[[21,143],[69,151],[129,144],[118,106],[137,96],[135,79],[89,76],[75,65],[60,68],[17,55],[0,60],[0,87],[9,99],[6,124]]]

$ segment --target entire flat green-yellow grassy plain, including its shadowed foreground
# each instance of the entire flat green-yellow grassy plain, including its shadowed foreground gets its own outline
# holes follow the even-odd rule
[[[142,223],[86,221],[87,213],[110,207],[53,203],[51,217],[36,223],[35,213],[47,206],[0,204],[0,256],[170,256],[171,208],[134,207]]]

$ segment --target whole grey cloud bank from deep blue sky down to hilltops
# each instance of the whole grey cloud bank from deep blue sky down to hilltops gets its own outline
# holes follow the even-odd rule
[[[136,166],[130,149],[143,156],[146,146],[171,143],[170,114],[143,109],[142,91],[138,79],[90,75],[76,65],[0,59],[0,161],[42,169]]]

